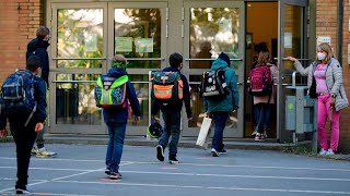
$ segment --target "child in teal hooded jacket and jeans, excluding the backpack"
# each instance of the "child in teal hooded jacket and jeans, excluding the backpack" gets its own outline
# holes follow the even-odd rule
[[[238,109],[238,87],[235,71],[230,69],[231,62],[228,54],[221,52],[219,58],[212,63],[211,70],[225,70],[225,83],[229,87],[228,95],[217,99],[203,99],[206,117],[212,117],[214,121],[214,135],[211,144],[211,154],[219,157],[220,154],[226,154],[223,144],[223,131],[225,128],[229,115],[232,111]]]

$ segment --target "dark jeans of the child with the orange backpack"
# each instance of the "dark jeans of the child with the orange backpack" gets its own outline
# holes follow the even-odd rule
[[[170,137],[172,136],[171,143],[168,145],[168,157],[176,157],[177,144],[179,139],[179,125],[180,125],[180,111],[167,111],[162,110],[162,115],[164,120],[163,134],[160,138],[159,145],[162,145],[165,149]]]

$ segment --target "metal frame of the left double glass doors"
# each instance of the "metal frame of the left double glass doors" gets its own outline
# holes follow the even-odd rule
[[[166,65],[166,49],[167,49],[167,1],[158,1],[158,2],[85,2],[82,4],[79,0],[70,2],[65,1],[49,1],[47,3],[47,13],[50,15],[47,16],[47,26],[51,29],[51,46],[49,47],[49,63],[50,63],[50,75],[49,75],[49,98],[54,100],[51,102],[56,102],[56,86],[57,83],[62,83],[60,81],[56,81],[56,75],[60,73],[67,74],[77,74],[77,73],[91,73],[91,74],[105,74],[110,68],[109,58],[114,56],[114,9],[122,9],[122,8],[135,8],[135,9],[149,9],[149,8],[159,8],[161,9],[161,19],[162,19],[162,46],[161,46],[161,58],[148,58],[148,59],[136,59],[136,58],[127,58],[128,61],[132,60],[160,60],[162,61],[161,66],[164,68]],[[56,61],[69,58],[58,58],[57,57],[57,11],[59,9],[103,9],[103,57],[97,58],[103,60],[103,65],[101,69],[61,69],[56,68]],[[127,72],[129,74],[144,74],[148,75],[149,69],[128,69]],[[69,81],[70,83],[94,83],[94,81]],[[66,82],[67,83],[67,82]],[[132,83],[148,83],[148,82],[132,82]],[[48,125],[50,133],[60,133],[60,134],[107,134],[107,128],[102,119],[101,125],[81,125],[81,124],[56,124],[56,105],[48,106]],[[150,112],[150,111],[149,111]],[[102,117],[103,118],[103,117]],[[145,135],[147,126],[128,126],[128,135]]]

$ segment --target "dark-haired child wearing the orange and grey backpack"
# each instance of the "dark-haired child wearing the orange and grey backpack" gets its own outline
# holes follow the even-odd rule
[[[174,99],[166,101],[165,98],[163,99],[162,97],[158,98],[158,90],[161,91],[162,88],[160,89],[152,89],[152,118],[159,113],[159,111],[162,111],[163,114],[163,120],[164,120],[164,127],[163,127],[163,133],[162,136],[160,137],[159,145],[156,146],[156,158],[160,161],[164,161],[164,149],[166,148],[168,144],[168,139],[171,138],[170,142],[170,147],[168,147],[168,161],[171,164],[176,164],[179,161],[177,160],[177,144],[179,139],[179,133],[180,133],[180,120],[182,120],[182,108],[183,108],[183,101],[185,102],[185,108],[186,108],[186,113],[187,113],[187,119],[191,120],[192,119],[192,112],[190,109],[190,93],[189,93],[189,85],[187,82],[187,78],[180,74],[180,70],[183,68],[183,56],[179,53],[172,53],[168,58],[171,66],[165,68],[162,70],[164,72],[163,78],[165,83],[165,78],[172,77],[173,75],[179,74],[179,81],[174,79],[176,85],[183,85],[182,87],[176,88],[176,90],[168,90],[173,93],[160,93],[161,94],[173,94],[168,95],[167,97],[174,97]],[[168,73],[168,74],[167,74]],[[171,73],[176,73],[176,74],[171,74]],[[155,73],[153,76],[161,75],[161,73]],[[153,78],[154,79],[154,78]],[[171,86],[171,85],[170,85]],[[154,85],[153,85],[154,87]],[[166,88],[166,87],[164,87]],[[164,89],[163,88],[163,89]],[[180,90],[178,90],[182,88]],[[155,93],[154,93],[155,91]],[[176,94],[176,95],[174,95]]]

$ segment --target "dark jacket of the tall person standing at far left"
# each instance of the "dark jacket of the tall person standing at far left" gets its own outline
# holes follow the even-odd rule
[[[48,53],[46,50],[49,45],[50,44],[39,38],[32,39],[26,47],[26,56],[25,56],[26,60],[28,60],[28,58],[32,54],[34,54],[33,52],[35,52],[35,56],[40,58],[42,77],[46,82],[46,84],[48,84],[48,71],[49,71]]]

